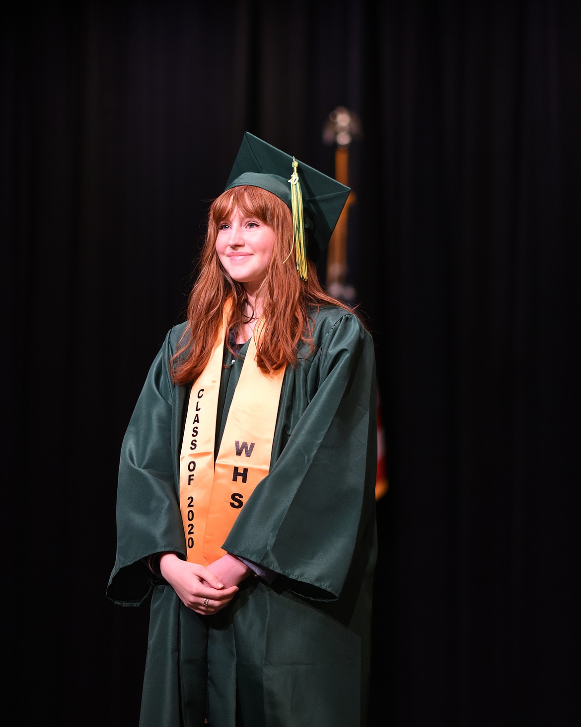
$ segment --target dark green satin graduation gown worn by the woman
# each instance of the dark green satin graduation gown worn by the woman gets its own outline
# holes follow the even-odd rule
[[[190,387],[175,386],[168,370],[183,324],[147,376],[123,440],[107,586],[107,598],[123,606],[151,593],[140,727],[201,727],[206,707],[210,727],[365,723],[376,552],[373,341],[341,308],[313,318],[314,350],[299,350],[296,368],[285,371],[269,475],[224,543],[277,577],[272,585],[246,578],[214,616],[186,608],[142,562],[185,554],[178,483]],[[242,364],[222,379],[218,439]]]

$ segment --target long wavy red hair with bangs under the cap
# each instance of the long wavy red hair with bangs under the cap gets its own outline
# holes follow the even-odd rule
[[[224,302],[232,297],[228,329],[239,329],[248,322],[243,284],[232,280],[216,254],[216,236],[221,222],[233,209],[257,217],[275,232],[275,245],[264,281],[262,313],[264,330],[256,353],[256,364],[264,373],[296,364],[296,348],[304,341],[313,347],[309,308],[338,305],[317,278],[317,269],[308,261],[309,279],[301,281],[296,270],[293,246],[293,219],[288,206],[276,195],[259,187],[243,185],[222,193],[208,212],[206,241],[200,254],[200,273],[187,304],[187,326],[171,358],[171,377],[176,384],[194,381],[210,360],[216,335],[222,325]],[[290,254],[289,254],[290,253]]]

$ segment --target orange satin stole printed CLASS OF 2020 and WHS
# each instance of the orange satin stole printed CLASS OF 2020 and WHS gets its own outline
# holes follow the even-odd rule
[[[284,370],[272,376],[256,366],[256,340],[248,344],[240,379],[228,412],[214,466],[214,438],[224,335],[222,329],[206,369],[192,385],[179,458],[179,506],[184,523],[187,560],[206,566],[224,555],[226,539],[240,509],[270,467]]]

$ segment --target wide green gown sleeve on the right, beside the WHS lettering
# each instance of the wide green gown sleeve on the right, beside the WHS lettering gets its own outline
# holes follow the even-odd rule
[[[288,441],[223,547],[282,574],[299,595],[334,600],[352,564],[365,570],[373,559],[375,355],[356,316],[322,327],[304,382],[290,375],[301,383],[288,395]]]

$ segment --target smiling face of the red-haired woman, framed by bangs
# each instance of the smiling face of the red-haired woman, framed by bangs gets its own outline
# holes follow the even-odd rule
[[[275,232],[258,217],[247,217],[232,209],[218,225],[216,253],[232,280],[242,283],[249,295],[256,295],[272,257]]]

